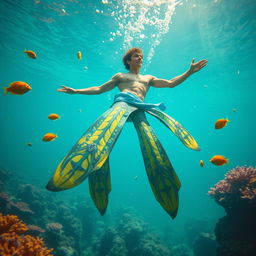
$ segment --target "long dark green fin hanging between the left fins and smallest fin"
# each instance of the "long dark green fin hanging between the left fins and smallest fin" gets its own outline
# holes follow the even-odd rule
[[[161,142],[149,125],[145,113],[135,111],[131,119],[139,137],[145,168],[155,198],[165,211],[175,218],[179,205],[179,178]]]

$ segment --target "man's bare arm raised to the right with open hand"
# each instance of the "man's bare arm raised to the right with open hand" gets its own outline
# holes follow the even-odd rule
[[[184,82],[193,73],[198,72],[201,68],[206,66],[207,62],[208,62],[207,60],[200,60],[195,63],[195,60],[193,59],[192,63],[190,64],[189,70],[183,73],[182,75],[176,76],[171,80],[153,78],[151,80],[151,86],[157,87],[157,88],[164,88],[164,87],[173,88],[181,84],[182,82]]]

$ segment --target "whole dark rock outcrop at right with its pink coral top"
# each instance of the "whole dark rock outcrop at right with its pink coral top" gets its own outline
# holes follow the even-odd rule
[[[218,256],[255,255],[256,168],[236,167],[209,194],[227,213],[215,227]]]

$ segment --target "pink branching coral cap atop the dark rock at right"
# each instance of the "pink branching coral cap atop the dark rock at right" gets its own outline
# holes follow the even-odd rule
[[[256,200],[256,168],[232,169],[208,193],[224,208],[232,208],[242,201],[252,204]]]

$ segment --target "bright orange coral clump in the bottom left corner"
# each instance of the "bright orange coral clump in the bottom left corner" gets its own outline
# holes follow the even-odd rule
[[[53,256],[52,249],[44,247],[42,238],[20,235],[27,226],[15,215],[0,215],[1,256]]]

